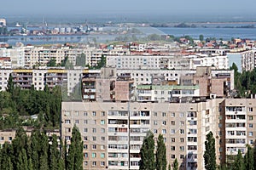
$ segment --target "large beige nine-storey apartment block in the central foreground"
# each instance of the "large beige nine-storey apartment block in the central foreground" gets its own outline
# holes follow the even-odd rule
[[[148,130],[164,135],[167,161],[175,158],[181,169],[203,169],[206,135],[217,137],[219,103],[63,102],[62,138],[70,142],[71,129],[79,127],[84,141],[84,169],[138,169],[139,152]],[[224,111],[224,110],[223,110]],[[224,150],[223,137],[216,150]],[[219,149],[221,148],[221,149]],[[224,152],[217,152],[218,162]]]

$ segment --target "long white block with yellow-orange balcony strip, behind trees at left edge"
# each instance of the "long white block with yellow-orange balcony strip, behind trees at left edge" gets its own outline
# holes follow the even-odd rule
[[[0,71],[0,91],[7,88],[9,75],[11,74],[15,83],[22,89],[30,89],[33,87],[36,90],[44,90],[45,85],[49,88],[61,86],[62,90],[67,91],[67,94],[81,91],[81,77],[88,72],[84,69],[77,70],[64,70],[64,69],[14,69],[14,70],[1,70]],[[64,92],[63,91],[63,92]],[[79,97],[81,99],[81,97]]]

